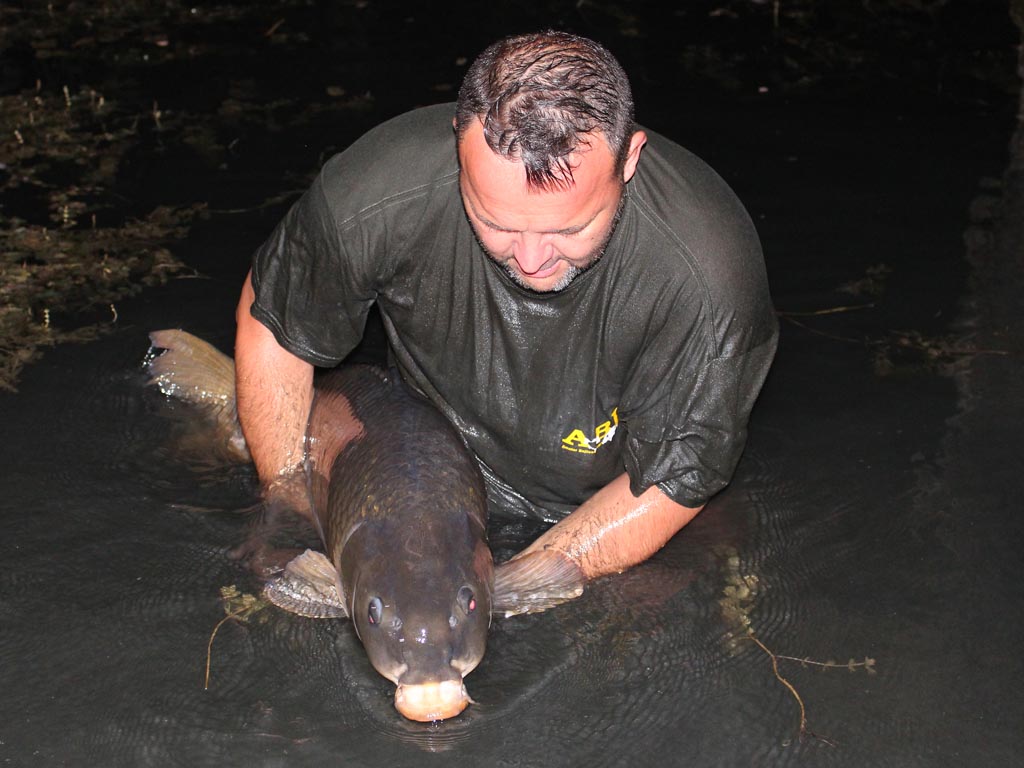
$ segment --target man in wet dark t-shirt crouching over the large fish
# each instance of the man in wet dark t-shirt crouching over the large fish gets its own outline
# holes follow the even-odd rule
[[[301,464],[313,367],[375,302],[492,509],[555,522],[527,551],[586,578],[649,557],[729,481],[777,337],[735,196],[636,128],[610,53],[558,32],[496,43],[454,111],[333,158],[256,253],[237,383],[270,493]]]

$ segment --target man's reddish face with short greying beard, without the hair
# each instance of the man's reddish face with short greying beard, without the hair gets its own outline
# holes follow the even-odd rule
[[[534,189],[526,186],[521,163],[487,146],[478,121],[459,141],[459,185],[477,240],[516,283],[532,291],[561,291],[601,257],[636,167],[631,159],[627,174],[617,173],[601,136],[569,162],[574,183]]]

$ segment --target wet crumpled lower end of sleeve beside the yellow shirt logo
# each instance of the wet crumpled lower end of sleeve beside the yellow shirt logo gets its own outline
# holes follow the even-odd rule
[[[728,484],[746,441],[751,409],[768,374],[777,336],[748,351],[680,367],[626,424],[630,489],[657,485],[674,501],[699,507]]]

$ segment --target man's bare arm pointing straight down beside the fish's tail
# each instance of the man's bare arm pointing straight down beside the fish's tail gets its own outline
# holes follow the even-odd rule
[[[302,466],[313,367],[282,347],[252,316],[254,298],[250,272],[234,315],[234,386],[249,453],[269,488]]]

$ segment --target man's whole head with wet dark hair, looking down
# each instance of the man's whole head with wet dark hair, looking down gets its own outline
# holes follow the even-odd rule
[[[492,45],[455,127],[466,214],[517,283],[558,291],[600,258],[646,140],[607,50],[560,32]]]

